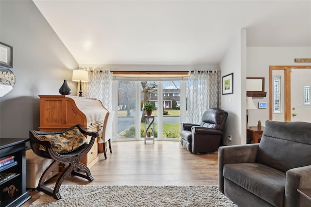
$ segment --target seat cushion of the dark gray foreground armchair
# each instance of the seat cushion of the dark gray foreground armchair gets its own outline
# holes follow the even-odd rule
[[[283,206],[285,173],[260,163],[225,164],[223,176],[274,206]]]

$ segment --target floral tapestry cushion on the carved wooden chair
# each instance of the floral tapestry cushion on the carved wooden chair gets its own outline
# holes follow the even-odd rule
[[[86,137],[79,131],[78,127],[74,127],[62,134],[46,134],[39,137],[45,141],[50,141],[53,145],[53,151],[59,154],[71,152],[87,143]],[[44,147],[42,150],[46,151]]]

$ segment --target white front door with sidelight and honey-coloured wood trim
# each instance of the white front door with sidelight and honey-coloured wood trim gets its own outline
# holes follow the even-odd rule
[[[270,66],[270,120],[311,122],[308,86],[311,65]]]

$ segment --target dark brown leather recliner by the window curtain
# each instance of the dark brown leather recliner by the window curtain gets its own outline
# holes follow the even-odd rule
[[[228,112],[208,109],[201,124],[181,123],[180,143],[190,153],[215,152],[220,146]]]

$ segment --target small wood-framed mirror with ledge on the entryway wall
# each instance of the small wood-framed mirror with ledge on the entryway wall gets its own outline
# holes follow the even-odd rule
[[[246,78],[246,96],[248,97],[266,97],[264,92],[264,78],[247,77]]]

